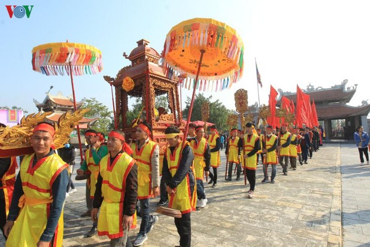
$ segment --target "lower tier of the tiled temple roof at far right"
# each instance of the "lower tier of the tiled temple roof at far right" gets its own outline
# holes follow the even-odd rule
[[[316,108],[319,120],[324,118],[345,118],[351,116],[367,116],[370,112],[370,104],[360,107],[351,107],[350,105],[328,105],[327,107]]]

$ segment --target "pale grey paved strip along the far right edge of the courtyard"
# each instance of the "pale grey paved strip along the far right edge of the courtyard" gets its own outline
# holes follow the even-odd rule
[[[355,145],[341,146],[343,243],[370,246],[370,165],[360,166]]]

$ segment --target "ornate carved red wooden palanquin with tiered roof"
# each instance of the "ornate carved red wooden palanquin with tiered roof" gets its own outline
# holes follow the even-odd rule
[[[127,141],[135,138],[133,123],[127,122],[128,101],[130,97],[139,97],[144,105],[143,118],[153,126],[152,139],[159,143],[161,153],[167,145],[164,130],[169,125],[184,128],[182,123],[180,100],[178,92],[178,79],[168,79],[163,74],[159,65],[160,54],[149,47],[149,41],[140,40],[137,47],[130,55],[124,52],[123,56],[131,61],[131,65],[119,70],[115,78],[104,76],[104,80],[114,85],[116,93],[116,118],[119,120],[119,128],[126,133]],[[123,80],[130,77],[134,81],[134,88],[127,92],[122,88]],[[169,112],[155,109],[156,96],[167,95]]]

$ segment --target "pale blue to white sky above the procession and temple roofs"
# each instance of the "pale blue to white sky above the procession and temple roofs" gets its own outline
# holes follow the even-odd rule
[[[5,5],[34,7],[29,19],[10,19]],[[122,53],[129,54],[140,39],[149,40],[160,53],[171,27],[195,17],[225,22],[243,39],[243,78],[229,91],[212,93],[229,109],[234,108],[233,95],[239,88],[248,90],[250,104],[258,100],[255,57],[263,82],[261,103],[268,103],[270,84],[295,91],[297,84],[301,88],[309,83],[330,87],[348,79],[347,86],[358,84],[351,101],[358,105],[369,98],[369,7],[366,1],[3,0],[0,107],[16,105],[36,112],[32,99],[42,101],[51,85],[53,94],[71,94],[69,77],[47,77],[31,66],[34,46],[68,39],[93,45],[103,54],[101,73],[75,77],[77,99],[95,97],[112,108],[110,87],[103,76],[115,77],[118,70],[129,65]],[[182,91],[185,100],[190,92]]]

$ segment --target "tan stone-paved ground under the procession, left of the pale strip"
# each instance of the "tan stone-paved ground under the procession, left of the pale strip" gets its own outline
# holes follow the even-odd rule
[[[308,165],[298,165],[296,171],[289,170],[287,177],[278,167],[275,184],[260,183],[263,172],[259,165],[253,199],[246,198],[248,187],[243,181],[235,181],[235,175],[232,182],[224,180],[226,159],[222,155],[218,186],[212,189],[206,185],[208,205],[192,214],[192,246],[340,246],[340,158],[341,153],[342,158],[347,157],[344,151],[353,153],[356,149],[345,147],[341,152],[340,144],[325,144],[314,153]],[[349,164],[354,161],[350,160]],[[364,175],[369,177],[368,173]],[[83,238],[83,233],[90,229],[92,223],[89,218],[79,217],[86,210],[85,183],[79,182],[76,186],[78,192],[71,194],[65,203],[63,245],[108,246],[105,237]],[[368,193],[363,194],[368,198]],[[151,201],[153,210],[157,202],[157,198]],[[362,208],[359,205],[355,211],[346,213],[366,210],[366,204],[362,204]],[[367,204],[367,213],[368,208]],[[368,216],[355,215],[359,217],[357,221],[364,221],[360,215]],[[346,226],[346,215],[343,217]],[[365,224],[361,225],[361,230],[365,233],[363,226]],[[137,231],[138,227],[130,231],[131,240]],[[159,215],[159,222],[143,246],[174,246],[178,240],[173,219]]]

